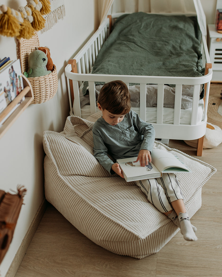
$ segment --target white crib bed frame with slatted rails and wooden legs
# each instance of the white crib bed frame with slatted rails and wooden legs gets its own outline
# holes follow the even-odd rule
[[[119,15],[119,14],[118,14]],[[129,83],[140,84],[140,107],[137,111],[140,117],[149,121],[146,107],[146,84],[158,84],[157,90],[157,107],[156,120],[152,122],[156,132],[156,138],[159,139],[178,139],[178,140],[198,140],[197,156],[202,155],[203,139],[206,132],[207,123],[207,106],[210,90],[210,81],[212,78],[212,66],[210,63],[209,53],[206,44],[206,37],[202,35],[202,60],[205,75],[200,77],[166,77],[166,76],[133,76],[133,75],[102,75],[90,74],[97,55],[110,34],[112,18],[117,14],[109,16],[103,21],[99,29],[92,35],[84,47],[77,55],[69,60],[69,64],[65,67],[65,75],[67,77],[70,115],[82,117],[80,108],[79,87],[83,81],[89,82],[89,99],[90,99],[90,114],[97,112],[95,82],[109,82],[113,80],[122,80],[127,85]],[[163,107],[164,85],[175,84],[175,104],[173,109],[173,122],[164,122]],[[200,88],[205,84],[205,99],[202,104],[199,102]],[[193,85],[193,102],[190,111],[189,122],[181,124],[181,93],[182,85]],[[198,107],[203,106],[203,116],[198,119]],[[183,110],[182,112],[186,112]],[[183,115],[182,115],[183,117]]]

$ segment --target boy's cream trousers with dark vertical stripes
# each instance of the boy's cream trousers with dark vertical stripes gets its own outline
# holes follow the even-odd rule
[[[163,173],[160,178],[136,181],[137,186],[147,196],[147,199],[160,212],[172,210],[171,202],[183,199],[177,177],[173,173]]]

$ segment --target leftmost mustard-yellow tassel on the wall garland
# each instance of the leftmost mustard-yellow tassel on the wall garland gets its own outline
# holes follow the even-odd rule
[[[11,9],[5,5],[0,6],[3,14],[0,14],[0,34],[7,37],[19,35],[20,25],[18,20],[12,16]]]

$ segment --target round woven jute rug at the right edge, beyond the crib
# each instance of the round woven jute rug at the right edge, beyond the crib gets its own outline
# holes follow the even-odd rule
[[[210,94],[207,108],[207,122],[215,124],[222,129],[222,115],[218,113],[218,108],[222,105],[222,99],[220,99],[221,89],[221,83],[210,84]]]

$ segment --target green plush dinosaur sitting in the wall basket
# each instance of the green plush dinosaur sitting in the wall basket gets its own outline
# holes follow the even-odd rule
[[[46,52],[46,53],[45,53]],[[29,70],[28,72],[24,72],[24,75],[26,77],[40,77],[45,76],[51,73],[51,70],[46,70],[46,64],[47,64],[47,50],[41,51],[35,48],[34,51],[32,51],[29,54],[28,57],[28,64],[29,64]]]

